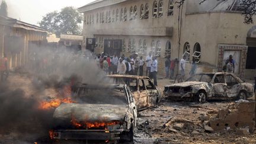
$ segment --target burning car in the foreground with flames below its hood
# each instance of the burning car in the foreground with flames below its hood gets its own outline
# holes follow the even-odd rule
[[[133,142],[137,110],[127,85],[83,84],[74,97],[75,103],[61,104],[53,113],[52,139]]]

